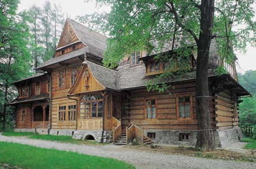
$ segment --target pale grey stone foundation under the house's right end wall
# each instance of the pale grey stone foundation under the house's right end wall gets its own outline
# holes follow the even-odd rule
[[[242,140],[243,134],[240,127],[227,130],[217,130],[215,134],[216,147],[225,148],[227,145]]]

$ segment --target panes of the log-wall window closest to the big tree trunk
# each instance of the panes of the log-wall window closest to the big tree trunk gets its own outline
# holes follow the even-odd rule
[[[177,97],[177,114],[179,118],[192,117],[192,96]]]

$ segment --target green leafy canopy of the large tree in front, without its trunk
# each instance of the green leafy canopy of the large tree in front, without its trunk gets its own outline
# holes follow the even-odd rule
[[[179,42],[182,51],[196,45],[200,33],[200,1],[194,0],[97,0],[109,5],[110,13],[78,17],[82,22],[109,33],[105,65],[116,67],[132,51],[152,49],[150,40],[160,43]],[[213,34],[218,41],[222,60],[232,62],[233,50],[244,51],[247,43],[255,45],[253,0],[217,0]],[[173,10],[175,9],[175,10]],[[175,48],[175,46],[173,46]],[[185,50],[184,50],[185,49]]]

